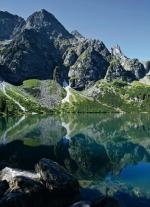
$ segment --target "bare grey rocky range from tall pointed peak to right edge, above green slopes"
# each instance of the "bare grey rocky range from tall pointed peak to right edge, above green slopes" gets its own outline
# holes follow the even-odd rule
[[[16,15],[12,16],[20,18]],[[21,27],[17,28],[15,35],[12,35],[9,36],[12,37],[10,44],[1,43],[0,45],[0,65],[4,66],[8,73],[10,71],[10,74],[15,71],[12,80],[6,79],[13,83],[16,75],[14,84],[30,78],[42,78],[40,70],[45,71],[47,76],[49,73],[49,77],[52,79],[55,67],[59,66],[62,68],[62,73],[64,70],[68,70],[67,79],[74,79],[75,88],[82,90],[92,82],[105,78],[113,59],[117,59],[125,71],[131,71],[132,78],[128,78],[128,80],[143,78],[150,69],[149,64],[145,69],[146,64],[142,64],[138,59],[124,56],[119,46],[109,51],[102,41],[84,38],[77,31],[68,32],[53,14],[44,9],[30,15],[26,21],[22,22]],[[5,41],[7,40],[10,38],[5,39]],[[30,56],[35,56],[35,60],[31,61]],[[42,62],[39,61],[40,59]],[[44,62],[47,62],[46,65],[49,69]],[[85,69],[82,70],[80,66],[84,66]],[[31,72],[35,68],[39,73],[36,72],[37,70],[33,72],[34,74]],[[0,75],[2,73],[3,71],[0,72]],[[43,77],[44,79],[46,75]],[[119,76],[115,77],[119,78]]]

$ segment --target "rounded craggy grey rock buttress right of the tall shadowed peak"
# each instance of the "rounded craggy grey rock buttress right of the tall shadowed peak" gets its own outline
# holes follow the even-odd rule
[[[105,77],[111,57],[102,42],[95,40],[81,42],[76,54],[78,58],[70,67],[68,75],[73,80],[74,88],[84,89]]]

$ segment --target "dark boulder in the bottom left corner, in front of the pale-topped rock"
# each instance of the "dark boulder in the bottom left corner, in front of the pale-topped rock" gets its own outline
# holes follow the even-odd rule
[[[46,189],[40,182],[18,176],[9,184],[8,191],[0,200],[0,206],[41,207],[46,206],[46,198]]]

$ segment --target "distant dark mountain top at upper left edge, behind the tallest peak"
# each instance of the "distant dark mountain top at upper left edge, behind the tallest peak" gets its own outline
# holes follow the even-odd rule
[[[11,39],[24,22],[24,19],[17,15],[0,11],[0,41]]]

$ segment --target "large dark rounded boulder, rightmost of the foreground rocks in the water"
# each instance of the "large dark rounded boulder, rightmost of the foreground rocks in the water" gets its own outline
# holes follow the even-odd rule
[[[78,181],[56,162],[42,159],[36,165],[36,172],[50,192],[75,194],[79,192]]]

